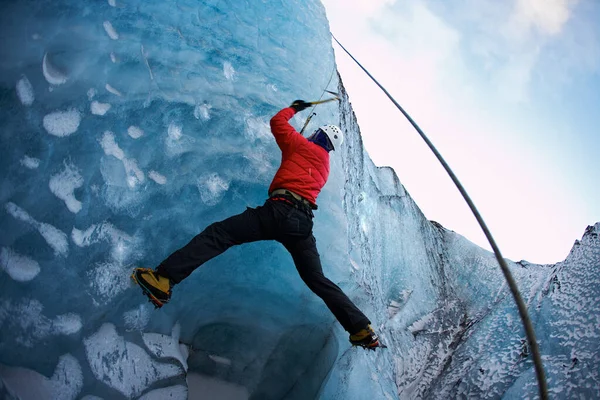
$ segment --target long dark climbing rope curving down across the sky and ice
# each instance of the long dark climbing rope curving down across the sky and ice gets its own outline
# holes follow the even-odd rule
[[[500,249],[496,245],[496,241],[492,237],[492,234],[489,231],[489,229],[487,228],[485,222],[483,221],[483,218],[479,214],[479,211],[477,211],[475,204],[473,203],[473,201],[467,194],[466,190],[464,189],[464,187],[462,186],[462,184],[460,183],[460,181],[458,180],[458,178],[456,177],[454,172],[452,172],[452,170],[450,169],[450,167],[448,166],[446,161],[442,158],[441,154],[433,146],[433,143],[431,143],[431,141],[427,138],[427,136],[425,136],[425,133],[423,133],[421,128],[419,128],[419,126],[416,124],[416,122],[413,121],[413,119],[410,117],[410,115],[408,115],[408,113],[406,111],[404,111],[402,106],[400,104],[398,104],[398,102],[396,100],[394,100],[394,98],[389,94],[389,92],[387,90],[385,90],[385,88],[369,73],[369,71],[367,71],[365,69],[365,67],[363,67],[361,65],[361,63],[359,63],[356,60],[356,58],[354,58],[352,56],[352,54],[350,54],[350,52],[348,50],[346,50],[346,48],[344,46],[342,46],[342,44],[339,42],[339,40],[337,40],[336,37],[333,36],[333,34],[331,36],[337,42],[337,44],[340,45],[340,47],[350,56],[350,58],[352,58],[352,60],[354,60],[354,62],[356,64],[358,64],[358,66],[369,76],[369,78],[371,78],[373,80],[373,82],[375,82],[375,84],[377,84],[377,86],[379,86],[379,88],[383,91],[383,93],[386,94],[386,96],[392,101],[392,103],[394,103],[394,105],[398,108],[398,110],[400,110],[400,112],[402,114],[404,114],[406,119],[408,119],[408,121],[416,129],[416,131],[419,133],[419,135],[421,135],[421,138],[425,141],[425,143],[427,143],[427,146],[429,146],[429,148],[431,149],[433,154],[435,154],[435,156],[437,157],[439,162],[442,164],[442,166],[448,173],[448,175],[450,175],[450,178],[452,179],[452,181],[458,188],[460,194],[463,196],[463,198],[469,205],[469,208],[473,212],[473,215],[475,215],[477,222],[479,222],[479,225],[481,226],[483,233],[485,233],[485,236],[487,237],[488,241],[490,242],[490,245],[492,246],[492,249],[494,250],[494,254],[496,255],[496,260],[498,260],[498,263],[500,264],[500,268],[502,269],[504,278],[506,279],[506,282],[508,283],[508,287],[510,288],[510,291],[512,292],[515,303],[517,303],[517,308],[519,309],[519,315],[521,316],[521,322],[523,323],[523,327],[525,328],[525,334],[527,336],[527,340],[529,341],[529,346],[531,347],[531,354],[533,357],[533,363],[535,365],[535,372],[536,372],[537,380],[538,380],[540,399],[542,399],[542,400],[548,399],[548,387],[547,387],[547,383],[546,383],[546,377],[544,375],[544,367],[542,365],[542,358],[540,356],[540,350],[538,347],[537,340],[535,338],[535,331],[533,330],[533,325],[531,323],[531,319],[529,318],[529,315],[527,313],[527,307],[521,297],[521,294],[517,287],[517,283],[515,282],[512,274],[510,273],[510,270],[508,269],[508,265],[506,264],[506,261],[500,254]]]

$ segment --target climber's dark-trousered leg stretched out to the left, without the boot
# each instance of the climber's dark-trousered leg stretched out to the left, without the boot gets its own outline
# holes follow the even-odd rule
[[[176,284],[232,246],[269,239],[270,215],[268,207],[262,206],[247,208],[241,214],[215,222],[167,257],[156,268],[156,272]]]

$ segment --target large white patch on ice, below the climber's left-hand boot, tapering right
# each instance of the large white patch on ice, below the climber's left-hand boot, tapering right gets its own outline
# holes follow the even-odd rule
[[[154,361],[141,347],[119,336],[113,324],[102,325],[83,344],[96,379],[128,398],[139,396],[158,380],[183,373],[175,365]]]

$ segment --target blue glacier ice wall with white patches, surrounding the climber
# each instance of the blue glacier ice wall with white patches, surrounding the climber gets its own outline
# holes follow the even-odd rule
[[[0,396],[536,397],[494,256],[365,152],[318,1],[22,0],[0,20]],[[308,130],[339,123],[346,143],[315,236],[389,348],[350,348],[277,243],[228,250],[152,309],[132,268],[260,205],[270,117],[324,89],[342,102]],[[553,265],[509,262],[554,398],[600,393],[599,233]]]

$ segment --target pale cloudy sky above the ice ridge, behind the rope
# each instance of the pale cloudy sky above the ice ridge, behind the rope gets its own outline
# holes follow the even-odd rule
[[[502,255],[565,259],[600,221],[600,1],[322,0],[333,34],[411,114]],[[418,133],[333,44],[379,166],[425,216],[490,249]]]

